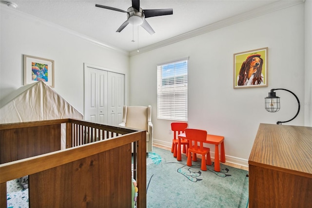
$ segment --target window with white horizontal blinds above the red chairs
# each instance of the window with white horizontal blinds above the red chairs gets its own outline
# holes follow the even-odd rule
[[[157,65],[157,118],[187,121],[188,58]]]

